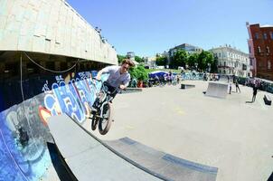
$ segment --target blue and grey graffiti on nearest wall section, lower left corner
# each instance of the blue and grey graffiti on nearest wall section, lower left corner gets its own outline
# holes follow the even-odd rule
[[[39,98],[40,97],[40,98]],[[39,121],[42,95],[1,112],[0,180],[38,180],[51,163],[46,141],[52,138]]]

